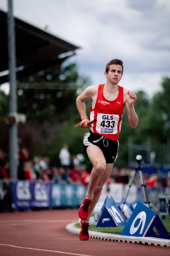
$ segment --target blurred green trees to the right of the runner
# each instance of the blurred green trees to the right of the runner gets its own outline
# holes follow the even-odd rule
[[[130,128],[127,116],[124,115],[117,163],[128,161],[128,137],[132,137],[134,143],[141,145],[147,145],[149,139],[151,151],[156,152],[156,162],[167,163],[167,146],[170,142],[170,78],[165,77],[161,85],[162,90],[155,93],[152,99],[148,99],[143,91],[136,93],[135,109],[139,116],[138,127]]]

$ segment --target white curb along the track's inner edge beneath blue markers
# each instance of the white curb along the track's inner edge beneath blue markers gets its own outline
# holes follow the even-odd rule
[[[65,228],[69,233],[79,235],[80,230],[75,227],[76,223],[77,222],[68,224]],[[100,233],[95,231],[89,231],[89,236],[91,238],[115,241],[115,242],[125,242],[125,243],[133,243],[133,244],[149,244],[149,245],[156,245],[156,246],[162,246],[162,247],[170,247],[169,239],[158,239],[154,237],[121,236],[117,234]]]

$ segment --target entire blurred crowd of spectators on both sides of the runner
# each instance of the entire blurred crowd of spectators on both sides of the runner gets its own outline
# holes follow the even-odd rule
[[[56,163],[51,163],[48,156],[36,156],[30,159],[28,151],[22,143],[18,143],[18,169],[17,178],[19,180],[44,180],[60,183],[81,183],[88,185],[92,166],[85,166],[82,154],[71,155],[68,144],[64,144],[59,151]],[[89,162],[90,163],[90,162]],[[107,185],[111,183],[128,184],[135,170],[128,167],[113,167],[111,177],[107,180]],[[167,175],[156,173],[143,173],[144,184],[147,187],[170,188],[170,172]],[[0,149],[0,179],[9,179],[9,163],[5,154]],[[137,177],[134,183],[137,183]],[[140,185],[139,180],[139,185]]]

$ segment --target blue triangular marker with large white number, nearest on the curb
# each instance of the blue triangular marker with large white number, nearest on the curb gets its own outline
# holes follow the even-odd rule
[[[156,229],[156,233],[153,228]],[[169,233],[156,212],[141,202],[137,203],[121,235],[170,239]]]

